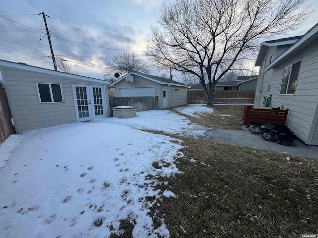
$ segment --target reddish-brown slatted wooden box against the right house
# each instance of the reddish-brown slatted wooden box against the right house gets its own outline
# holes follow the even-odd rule
[[[243,125],[249,125],[251,122],[285,125],[287,115],[288,109],[245,106]]]

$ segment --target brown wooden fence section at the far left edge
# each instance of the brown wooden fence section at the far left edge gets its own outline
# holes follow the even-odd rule
[[[13,134],[13,126],[9,111],[9,105],[3,91],[2,83],[0,83],[0,144]]]

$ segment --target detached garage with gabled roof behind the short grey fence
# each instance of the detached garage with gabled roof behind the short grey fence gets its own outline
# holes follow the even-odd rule
[[[158,109],[186,105],[190,86],[172,79],[130,72],[113,82],[116,97],[158,97]]]

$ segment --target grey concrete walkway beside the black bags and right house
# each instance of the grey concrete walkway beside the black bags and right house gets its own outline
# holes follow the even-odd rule
[[[318,158],[318,146],[306,145],[299,139],[295,140],[295,146],[284,146],[275,142],[263,140],[259,135],[246,130],[230,130],[213,128],[204,133],[210,140],[234,145],[243,145],[259,149],[285,152],[291,155]]]

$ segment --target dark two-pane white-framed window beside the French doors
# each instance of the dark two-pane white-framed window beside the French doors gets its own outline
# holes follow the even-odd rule
[[[38,83],[41,103],[63,102],[61,84]]]

